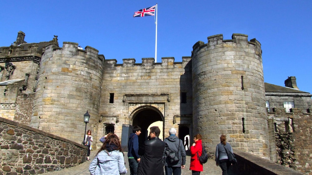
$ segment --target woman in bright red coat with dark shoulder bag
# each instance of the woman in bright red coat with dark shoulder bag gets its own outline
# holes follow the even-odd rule
[[[191,164],[190,170],[192,170],[192,175],[199,175],[202,171],[202,163],[199,162],[197,158],[198,155],[202,155],[202,135],[196,134],[194,136],[193,145],[190,147],[191,150]]]

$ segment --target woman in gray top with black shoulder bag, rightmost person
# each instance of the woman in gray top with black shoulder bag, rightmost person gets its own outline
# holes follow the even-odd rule
[[[225,135],[221,135],[220,137],[221,143],[219,143],[216,147],[216,165],[220,166],[222,169],[222,175],[227,175],[227,171],[231,163],[228,161],[227,152],[225,149],[231,151],[233,153],[232,146],[226,142],[227,137]]]

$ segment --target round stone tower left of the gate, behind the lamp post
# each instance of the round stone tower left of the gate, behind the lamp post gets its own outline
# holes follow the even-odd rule
[[[30,126],[81,143],[87,130],[96,135],[104,56],[89,46],[50,43],[41,58]]]

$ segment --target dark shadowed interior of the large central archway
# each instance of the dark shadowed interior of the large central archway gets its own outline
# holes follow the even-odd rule
[[[158,112],[152,109],[144,108],[135,114],[133,119],[133,126],[138,125],[142,129],[139,136],[139,146],[141,146],[144,141],[147,140],[149,135],[149,133],[147,133],[147,129],[149,125],[157,121],[163,121],[163,118]]]

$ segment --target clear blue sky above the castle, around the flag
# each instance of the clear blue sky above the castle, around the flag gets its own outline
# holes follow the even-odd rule
[[[28,43],[64,41],[91,46],[106,59],[155,57],[153,16],[133,18],[135,11],[158,3],[157,62],[191,56],[197,41],[233,33],[261,43],[264,81],[284,86],[296,76],[300,90],[312,93],[312,1],[264,0],[137,0],[137,1],[16,1],[2,0],[0,46],[9,46],[17,32]]]

